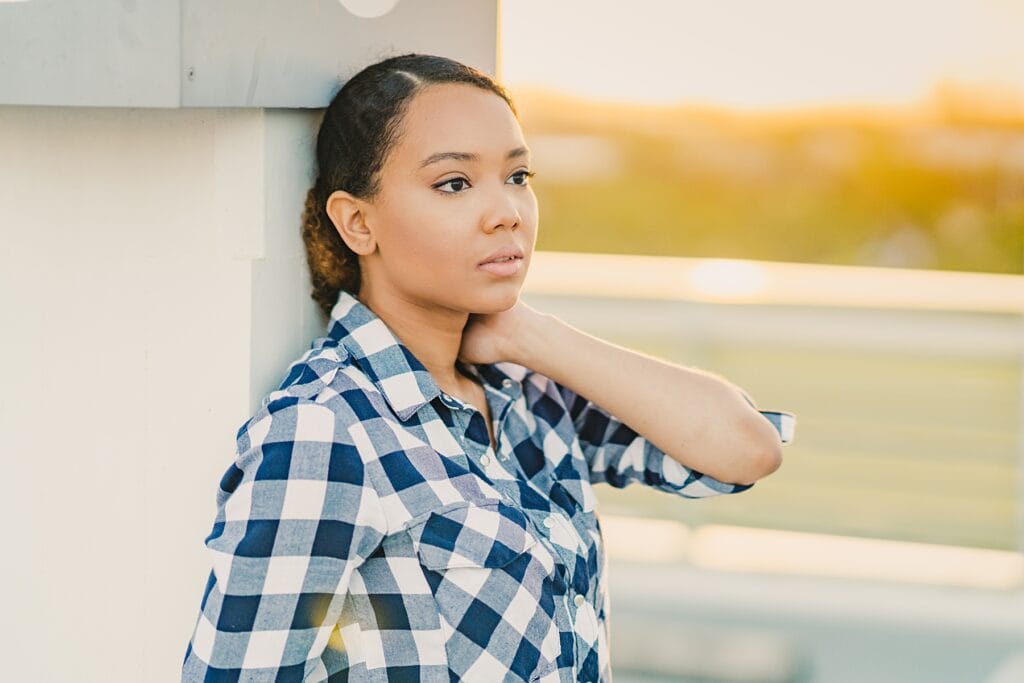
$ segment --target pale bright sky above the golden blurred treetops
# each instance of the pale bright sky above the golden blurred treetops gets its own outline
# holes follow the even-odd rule
[[[1024,0],[502,0],[500,77],[601,99],[903,104],[1024,93]]]

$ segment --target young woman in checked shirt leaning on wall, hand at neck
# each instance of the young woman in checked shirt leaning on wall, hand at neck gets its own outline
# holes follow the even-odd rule
[[[745,490],[793,416],[519,299],[529,148],[485,74],[368,67],[316,161],[327,335],[239,430],[182,680],[608,680],[592,484]]]

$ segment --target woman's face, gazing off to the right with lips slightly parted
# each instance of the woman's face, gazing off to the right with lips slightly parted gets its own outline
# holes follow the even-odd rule
[[[421,91],[381,169],[381,194],[364,207],[377,244],[361,257],[364,285],[370,282],[375,296],[387,289],[426,306],[511,308],[537,242],[529,169],[522,131],[504,99],[466,84]],[[505,247],[522,253],[514,272],[480,267]]]

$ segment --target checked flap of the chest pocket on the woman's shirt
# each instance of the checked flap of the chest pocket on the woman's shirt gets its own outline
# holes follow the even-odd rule
[[[424,566],[501,567],[528,550],[537,539],[518,508],[501,501],[460,504],[431,512],[409,528]]]

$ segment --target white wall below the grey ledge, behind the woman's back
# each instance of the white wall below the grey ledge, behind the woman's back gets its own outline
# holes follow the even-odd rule
[[[0,106],[4,680],[178,680],[234,431],[323,332],[318,114]]]

